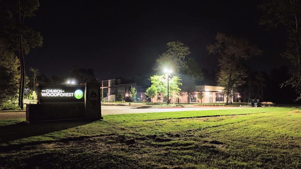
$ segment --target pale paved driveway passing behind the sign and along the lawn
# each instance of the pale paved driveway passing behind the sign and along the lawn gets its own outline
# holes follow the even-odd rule
[[[101,105],[101,115],[126,114],[126,113],[153,113],[171,111],[202,111],[202,110],[223,110],[223,109],[244,109],[252,107],[184,107],[184,108],[146,108],[137,109],[129,106],[107,106]],[[0,119],[25,119],[26,113],[23,112],[0,112]]]

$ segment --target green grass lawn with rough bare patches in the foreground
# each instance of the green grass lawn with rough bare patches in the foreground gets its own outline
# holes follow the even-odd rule
[[[301,168],[301,111],[287,107],[0,120],[0,168]]]

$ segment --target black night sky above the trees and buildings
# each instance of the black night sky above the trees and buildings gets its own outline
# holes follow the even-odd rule
[[[27,74],[34,67],[47,77],[65,77],[78,66],[92,68],[98,80],[149,77],[170,41],[187,45],[187,57],[213,72],[217,56],[209,55],[205,45],[217,32],[248,38],[265,51],[245,62],[255,71],[290,66],[279,56],[285,30],[260,26],[258,5],[257,0],[40,1],[36,17],[25,21],[43,36],[43,46],[25,56]]]

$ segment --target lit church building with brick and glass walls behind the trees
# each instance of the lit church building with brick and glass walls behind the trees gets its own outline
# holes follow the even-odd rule
[[[133,83],[133,80],[126,80],[122,78],[110,79],[110,80],[102,80],[101,81],[101,91],[103,95],[102,102],[106,101],[116,101],[118,92],[123,94],[123,98],[126,102],[131,101],[129,97],[129,92],[131,87],[135,87],[137,90],[137,101],[147,101],[147,95],[145,95],[145,88],[141,86],[137,86],[136,83]],[[190,103],[225,103],[227,96],[222,92],[223,87],[221,86],[206,86],[206,85],[198,85],[195,86],[195,91],[190,95]],[[197,94],[199,92],[203,93],[203,98],[198,99]],[[235,97],[235,98],[234,98]],[[239,93],[236,93],[233,98],[231,98],[232,102],[240,102],[239,101]],[[179,95],[175,95],[175,97],[169,97],[171,100],[170,103],[188,103],[187,92],[181,92]],[[166,98],[163,97],[163,94],[157,95],[153,98],[153,102],[166,102]]]

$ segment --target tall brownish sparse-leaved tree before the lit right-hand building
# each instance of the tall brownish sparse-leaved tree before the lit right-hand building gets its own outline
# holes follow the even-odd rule
[[[240,65],[240,61],[252,56],[261,55],[262,51],[256,46],[249,44],[247,39],[226,36],[217,33],[216,42],[209,44],[206,49],[210,53],[218,54],[218,66],[220,70],[216,74],[216,80],[219,85],[225,87],[225,93],[229,98],[231,90],[244,83],[244,77],[247,76],[246,70]],[[228,100],[226,101],[228,105]]]

